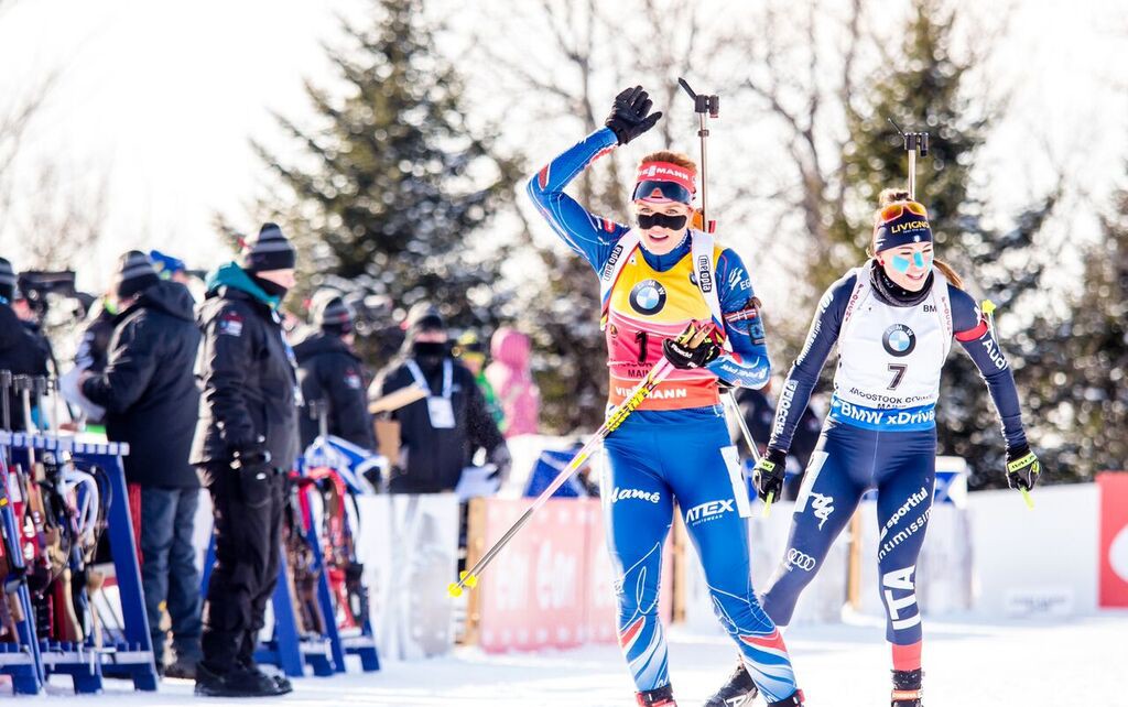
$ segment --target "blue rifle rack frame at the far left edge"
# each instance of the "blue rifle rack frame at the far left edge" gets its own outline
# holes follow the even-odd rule
[[[144,594],[141,591],[141,568],[134,542],[133,520],[129,503],[125,502],[129,489],[122,457],[129,453],[129,445],[116,442],[88,443],[69,436],[0,430],[0,454],[2,450],[11,450],[14,457],[27,454],[28,450],[69,452],[76,459],[106,470],[113,489],[113,501],[107,509],[106,537],[117,575],[125,640],[98,646],[94,637],[87,637],[82,642],[39,638],[35,635],[30,595],[26,583],[23,583],[16,591],[24,608],[24,621],[17,624],[19,643],[0,644],[0,674],[11,675],[12,689],[17,695],[39,693],[54,673],[70,675],[77,693],[100,692],[103,678],[106,675],[132,679],[134,689],[156,691],[157,668],[153,663]],[[9,481],[8,475],[15,474],[11,467],[14,460],[3,461],[8,469],[3,481]],[[11,484],[9,491],[10,487]],[[15,533],[16,518],[10,504],[0,507],[0,521],[10,533]]]

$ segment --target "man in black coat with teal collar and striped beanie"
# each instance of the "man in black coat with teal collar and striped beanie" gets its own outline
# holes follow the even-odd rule
[[[274,223],[238,263],[208,279],[200,308],[203,386],[191,461],[215,511],[215,566],[208,584],[196,693],[282,695],[289,682],[254,662],[281,551],[285,474],[298,457],[293,352],[277,308],[293,286],[297,254]]]

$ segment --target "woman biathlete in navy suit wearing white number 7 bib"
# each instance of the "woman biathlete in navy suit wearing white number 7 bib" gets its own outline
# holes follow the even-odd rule
[[[936,461],[940,373],[952,337],[975,361],[1003,423],[1007,480],[1030,489],[1041,471],[1026,444],[1014,377],[960,277],[933,257],[928,215],[908,192],[887,189],[874,218],[874,258],[822,297],[807,345],[776,408],[758,466],[763,497],[779,497],[784,459],[835,343],[838,369],[819,445],[795,502],[791,538],[764,594],[786,626],[795,601],[869,488],[878,491],[878,569],[892,644],[893,707],[920,707],[916,562],[928,527]],[[752,675],[755,679],[755,675]],[[744,680],[747,681],[747,677]],[[726,687],[731,687],[726,686]]]

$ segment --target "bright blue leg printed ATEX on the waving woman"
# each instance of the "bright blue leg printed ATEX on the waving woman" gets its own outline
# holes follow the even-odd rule
[[[662,461],[666,478],[700,557],[713,611],[766,700],[787,699],[796,692],[795,674],[783,637],[752,589],[748,525],[740,515],[748,497],[735,450],[730,460],[722,452],[730,447],[724,423],[716,418],[682,425],[667,431],[663,439],[671,449]]]

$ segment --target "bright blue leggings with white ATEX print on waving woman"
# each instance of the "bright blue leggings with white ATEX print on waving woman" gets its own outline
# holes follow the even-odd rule
[[[747,492],[739,470],[735,483],[730,476],[726,447],[720,407],[634,413],[605,442],[610,465],[603,513],[616,571],[619,644],[640,691],[670,682],[658,598],[662,546],[677,501],[713,609],[760,690],[777,701],[795,692],[795,675],[779,631],[752,591],[748,527],[740,515]]]

